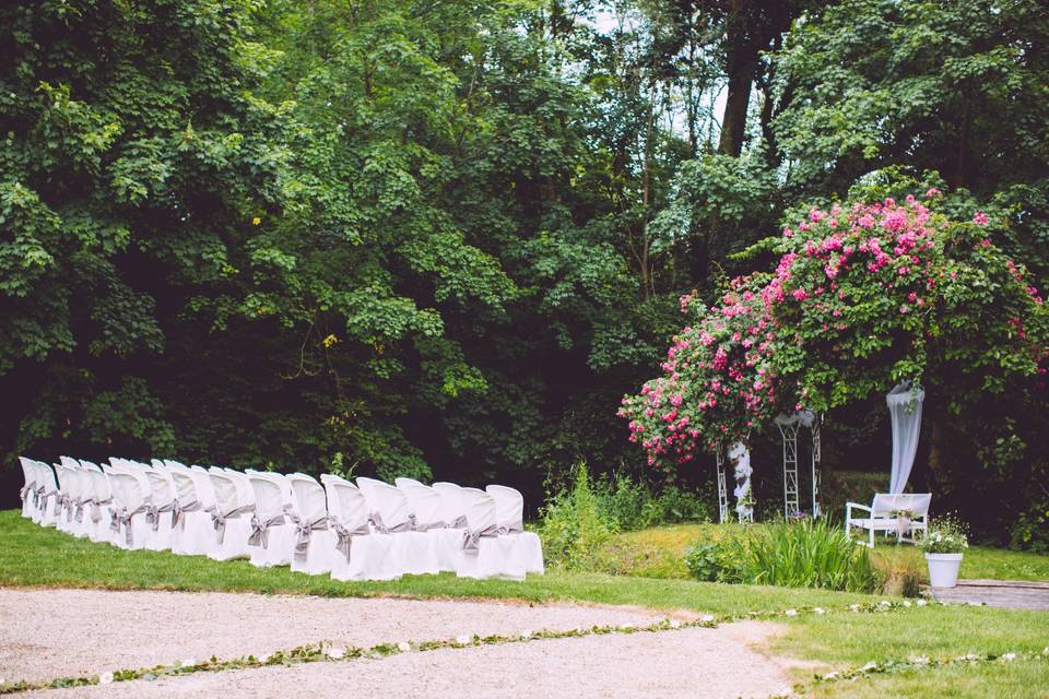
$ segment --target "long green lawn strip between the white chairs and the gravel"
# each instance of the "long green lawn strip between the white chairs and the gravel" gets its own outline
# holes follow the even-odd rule
[[[845,607],[877,597],[823,590],[723,585],[689,580],[551,571],[524,582],[470,580],[451,574],[405,576],[390,582],[341,582],[287,568],[256,568],[168,552],[127,552],[40,528],[17,511],[0,512],[0,585],[315,594],[496,597],[571,601],[689,609],[723,616],[789,607]]]

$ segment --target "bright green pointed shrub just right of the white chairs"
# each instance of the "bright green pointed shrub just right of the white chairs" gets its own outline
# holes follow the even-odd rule
[[[617,525],[599,506],[586,463],[576,466],[570,488],[547,494],[541,519],[540,536],[550,565],[571,570],[609,567],[604,558]]]

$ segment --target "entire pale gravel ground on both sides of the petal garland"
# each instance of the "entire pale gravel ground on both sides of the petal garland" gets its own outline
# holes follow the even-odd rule
[[[212,655],[260,655],[318,641],[369,647],[647,625],[657,618],[646,611],[578,605],[0,589],[0,677],[50,680]],[[775,625],[747,621],[195,673],[24,696],[767,697],[789,684],[787,667],[757,650],[775,632]]]

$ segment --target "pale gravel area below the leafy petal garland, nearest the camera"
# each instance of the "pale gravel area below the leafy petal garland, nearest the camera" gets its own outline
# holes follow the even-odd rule
[[[768,697],[788,684],[750,650],[767,625],[611,635],[405,653],[384,660],[198,673],[156,682],[33,692],[39,699],[237,697],[426,697],[486,699],[735,699]]]

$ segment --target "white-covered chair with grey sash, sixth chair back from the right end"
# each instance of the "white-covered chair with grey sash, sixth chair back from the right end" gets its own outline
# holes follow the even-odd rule
[[[335,580],[393,580],[400,577],[391,552],[392,534],[376,534],[364,494],[337,475],[320,476],[328,496],[328,517],[335,532],[331,577]]]

